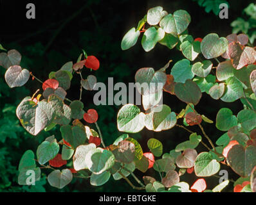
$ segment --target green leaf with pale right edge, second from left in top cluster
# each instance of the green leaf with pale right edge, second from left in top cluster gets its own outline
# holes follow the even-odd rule
[[[151,51],[157,42],[165,37],[165,31],[163,29],[151,27],[147,29],[142,37],[142,47],[146,52]]]

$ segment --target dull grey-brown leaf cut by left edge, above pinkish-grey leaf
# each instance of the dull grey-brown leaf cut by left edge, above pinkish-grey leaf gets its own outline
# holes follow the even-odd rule
[[[12,65],[21,63],[21,54],[16,50],[10,50],[8,53],[0,53],[0,65],[8,69]]]

